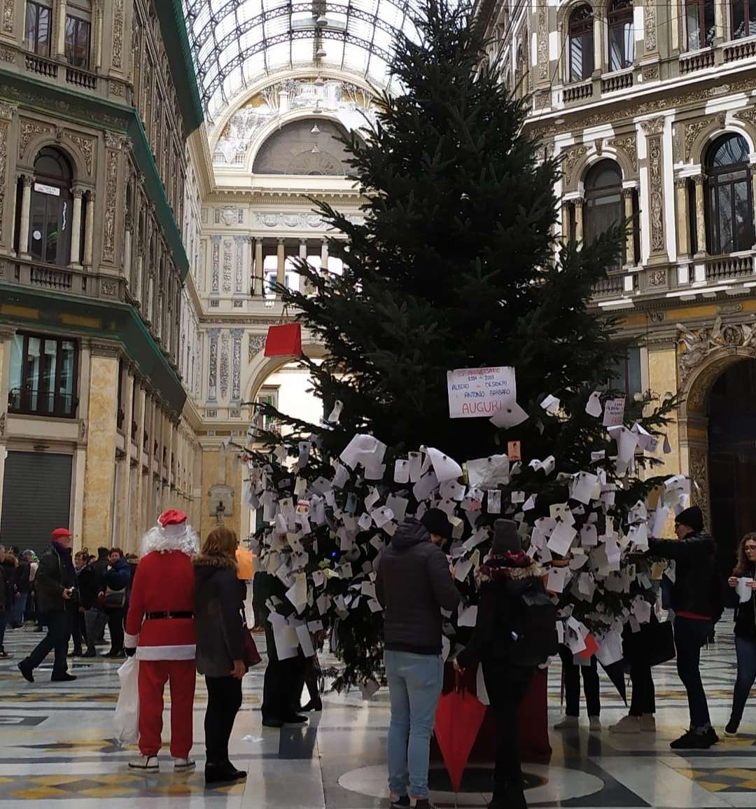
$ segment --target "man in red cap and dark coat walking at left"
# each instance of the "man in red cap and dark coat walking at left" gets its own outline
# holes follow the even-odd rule
[[[74,613],[78,609],[78,590],[74,560],[71,558],[71,532],[68,528],[53,531],[53,544],[40,560],[35,577],[37,609],[44,616],[47,634],[36,649],[19,663],[19,671],[28,682],[34,682],[33,671],[55,652],[53,683],[76,680],[68,673],[68,642]]]

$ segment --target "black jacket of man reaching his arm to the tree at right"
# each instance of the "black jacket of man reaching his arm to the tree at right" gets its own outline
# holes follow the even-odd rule
[[[719,620],[722,603],[713,536],[700,533],[686,536],[684,540],[648,540],[648,553],[676,562],[672,588],[674,612],[693,612]]]

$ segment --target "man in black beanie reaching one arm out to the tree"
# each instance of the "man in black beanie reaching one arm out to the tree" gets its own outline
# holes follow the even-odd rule
[[[691,726],[669,747],[674,750],[705,750],[716,744],[709,718],[706,692],[701,682],[701,647],[707,642],[721,604],[716,578],[716,543],[703,531],[703,514],[698,506],[682,510],[674,521],[677,540],[648,540],[648,553],[674,559],[672,590],[674,643],[678,675],[688,695]]]

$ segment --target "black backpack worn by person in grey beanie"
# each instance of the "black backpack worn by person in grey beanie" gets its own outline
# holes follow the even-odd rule
[[[557,654],[556,604],[540,587],[529,588],[517,599],[509,659],[515,666],[540,666]]]

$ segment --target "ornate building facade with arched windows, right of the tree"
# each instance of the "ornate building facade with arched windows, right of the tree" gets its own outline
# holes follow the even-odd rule
[[[756,2],[482,0],[476,13],[561,160],[561,237],[631,222],[594,302],[637,338],[637,390],[680,396],[662,471],[691,476],[732,547],[756,527]]]

